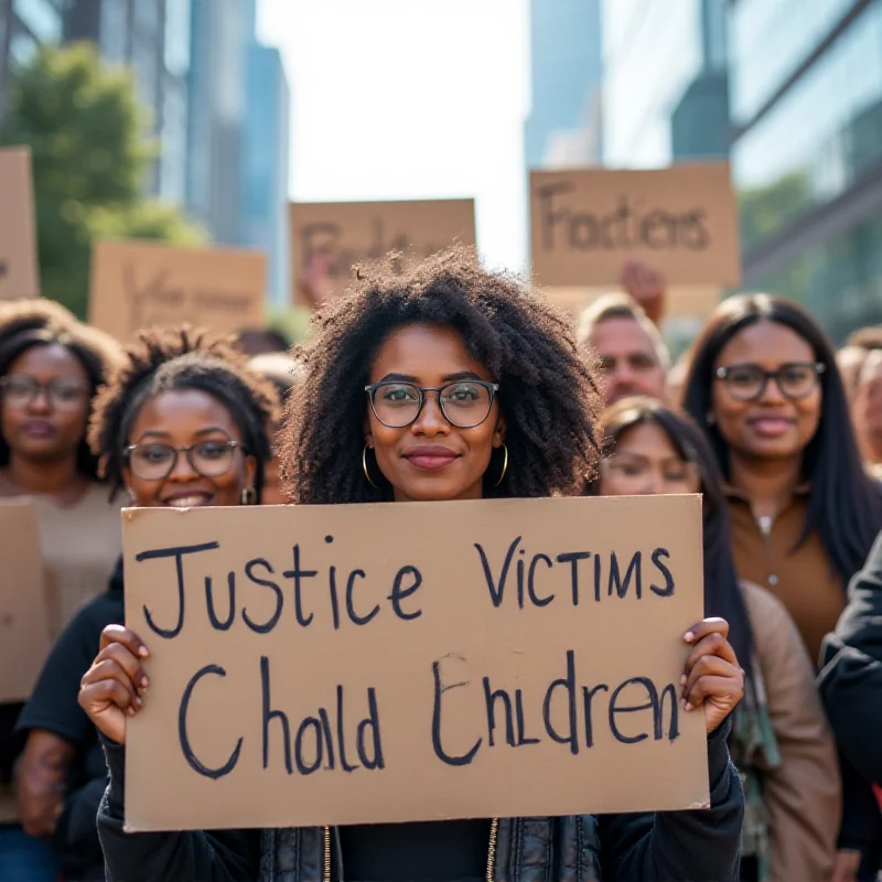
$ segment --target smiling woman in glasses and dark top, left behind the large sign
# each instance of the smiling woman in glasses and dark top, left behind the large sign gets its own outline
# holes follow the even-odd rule
[[[96,399],[92,449],[129,505],[255,504],[277,402],[225,343],[189,330],[142,333]],[[105,584],[55,645],[19,720],[23,806],[34,824],[57,825],[65,878],[78,882],[105,878],[95,817],[107,770],[77,693],[103,628],[123,621],[121,560]]]

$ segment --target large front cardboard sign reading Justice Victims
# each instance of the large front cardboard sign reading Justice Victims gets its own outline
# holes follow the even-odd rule
[[[123,553],[127,829],[708,804],[698,496],[127,509]]]

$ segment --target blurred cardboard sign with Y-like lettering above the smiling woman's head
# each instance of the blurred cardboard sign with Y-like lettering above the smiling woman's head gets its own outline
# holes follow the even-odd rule
[[[92,251],[89,323],[118,340],[187,321],[218,333],[262,327],[266,256],[150,241],[99,241]]]

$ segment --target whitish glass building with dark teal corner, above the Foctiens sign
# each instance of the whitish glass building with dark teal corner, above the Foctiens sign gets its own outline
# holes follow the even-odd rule
[[[728,4],[604,0],[604,164],[659,168],[727,155]]]

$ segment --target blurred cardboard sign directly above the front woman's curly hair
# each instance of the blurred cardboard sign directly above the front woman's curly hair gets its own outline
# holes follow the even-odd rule
[[[315,250],[332,255],[331,277],[342,293],[356,263],[389,251],[422,258],[459,241],[474,245],[474,200],[291,203],[292,291],[304,303],[299,279]]]

